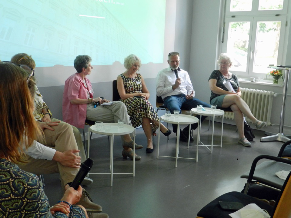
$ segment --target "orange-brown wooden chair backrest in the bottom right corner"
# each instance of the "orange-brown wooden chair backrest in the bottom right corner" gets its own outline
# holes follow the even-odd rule
[[[273,218],[291,217],[291,172],[287,176],[284,185],[279,193],[276,204],[274,205],[275,211],[271,215]]]

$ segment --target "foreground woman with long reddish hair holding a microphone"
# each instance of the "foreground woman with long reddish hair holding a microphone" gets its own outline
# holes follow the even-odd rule
[[[50,207],[38,177],[16,165],[26,161],[24,150],[41,137],[41,131],[33,118],[26,71],[17,65],[0,62],[0,78],[0,213],[4,217],[17,214],[23,217],[88,217],[84,207],[75,205],[82,194],[81,186],[78,190],[66,186],[59,203]]]

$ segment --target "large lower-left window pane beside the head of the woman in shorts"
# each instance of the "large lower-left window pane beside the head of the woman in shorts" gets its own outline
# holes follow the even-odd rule
[[[250,22],[229,22],[227,54],[232,58],[232,71],[246,71]]]

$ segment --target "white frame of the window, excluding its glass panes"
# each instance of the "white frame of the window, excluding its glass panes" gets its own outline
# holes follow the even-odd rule
[[[230,12],[230,0],[226,0],[226,17],[225,17],[225,30],[224,30],[224,41],[221,43],[221,52],[227,51],[227,40],[228,40],[228,31],[229,31],[229,22],[251,22],[250,32],[249,32],[249,48],[247,54],[247,68],[246,72],[243,71],[233,71],[234,74],[237,74],[239,77],[264,77],[267,73],[254,73],[253,72],[253,62],[254,62],[254,53],[251,57],[251,51],[255,51],[256,43],[256,28],[258,21],[281,21],[280,29],[280,39],[279,39],[279,48],[278,48],[278,58],[277,64],[283,64],[285,59],[283,59],[286,51],[284,45],[286,45],[285,35],[286,35],[286,20],[287,20],[287,6],[288,0],[284,0],[283,10],[266,10],[258,11],[259,0],[253,0],[252,11],[249,12]],[[278,15],[279,16],[275,16]],[[220,52],[220,53],[221,53]],[[271,63],[270,63],[271,64]],[[267,66],[266,66],[267,67]],[[229,69],[232,71],[232,68]]]

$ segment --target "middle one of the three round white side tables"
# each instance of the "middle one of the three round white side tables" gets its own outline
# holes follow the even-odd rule
[[[181,124],[194,124],[194,123],[198,123],[198,132],[200,130],[200,126],[199,126],[199,119],[197,117],[193,117],[190,115],[185,115],[185,114],[179,114],[179,117],[174,117],[174,114],[171,114],[171,117],[169,118],[169,120],[165,119],[165,115],[162,115],[162,117],[160,117],[159,119],[159,127],[161,126],[161,121],[167,122],[167,123],[171,123],[171,124],[177,124],[177,143],[176,143],[176,163],[175,163],[175,167],[177,167],[177,160],[178,158],[183,158],[183,159],[192,159],[192,160],[196,160],[196,162],[198,161],[198,133],[197,133],[197,149],[196,149],[196,158],[186,158],[186,157],[178,157],[179,155],[179,144],[180,144],[180,125]],[[171,156],[160,156],[159,155],[159,144],[160,144],[160,132],[159,131],[159,137],[158,137],[158,159],[159,157],[171,157]],[[188,136],[188,148],[189,148],[189,141],[190,141],[190,131],[189,131],[189,136]]]

